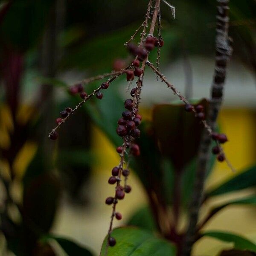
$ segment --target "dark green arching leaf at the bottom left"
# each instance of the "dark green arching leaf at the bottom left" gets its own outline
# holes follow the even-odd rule
[[[86,248],[80,246],[74,241],[60,236],[48,235],[41,239],[43,242],[49,242],[51,239],[57,241],[61,248],[67,253],[68,256],[93,256],[93,254]]]

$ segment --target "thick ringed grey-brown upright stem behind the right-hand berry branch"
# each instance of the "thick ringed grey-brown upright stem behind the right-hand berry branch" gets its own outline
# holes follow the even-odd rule
[[[214,131],[219,110],[223,101],[223,89],[226,78],[227,62],[232,53],[230,48],[228,29],[228,2],[229,0],[217,0],[218,14],[217,14],[217,29],[216,29],[216,57],[215,57],[215,73],[211,88],[211,100],[209,104],[209,111],[207,123]],[[183,244],[183,256],[191,254],[192,245],[195,242],[198,214],[203,200],[204,182],[206,178],[207,166],[209,162],[209,149],[211,139],[209,134],[204,132],[199,152],[198,152],[198,168],[196,171],[195,185],[192,194],[192,200],[189,209],[189,226],[186,232],[186,237]]]

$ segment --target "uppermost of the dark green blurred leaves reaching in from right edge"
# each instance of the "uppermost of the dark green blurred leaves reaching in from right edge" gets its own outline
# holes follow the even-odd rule
[[[227,180],[217,188],[206,193],[206,197],[222,195],[229,192],[234,192],[241,189],[256,187],[256,166],[251,167],[245,172],[236,175],[231,180]]]

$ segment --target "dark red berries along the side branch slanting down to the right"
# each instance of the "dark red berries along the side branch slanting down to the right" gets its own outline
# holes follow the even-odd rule
[[[185,105],[185,110],[187,112],[195,112],[195,117],[197,117],[199,120],[204,120],[205,119],[205,113],[204,113],[204,106],[203,105],[196,105],[195,107],[193,107],[190,104],[186,104]],[[219,162],[223,162],[226,157],[225,154],[223,153],[223,150],[221,148],[221,146],[219,145],[219,143],[223,144],[227,142],[227,136],[225,134],[218,134],[216,132],[211,132],[211,138],[212,140],[214,140],[217,145],[214,146],[212,148],[212,154],[216,154],[217,156],[217,160]]]

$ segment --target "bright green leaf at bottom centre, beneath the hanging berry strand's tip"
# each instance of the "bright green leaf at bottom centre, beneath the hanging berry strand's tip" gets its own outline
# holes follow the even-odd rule
[[[168,241],[134,227],[117,228],[111,236],[116,239],[116,245],[107,246],[107,236],[103,241],[100,256],[175,256],[176,253],[175,246]]]

